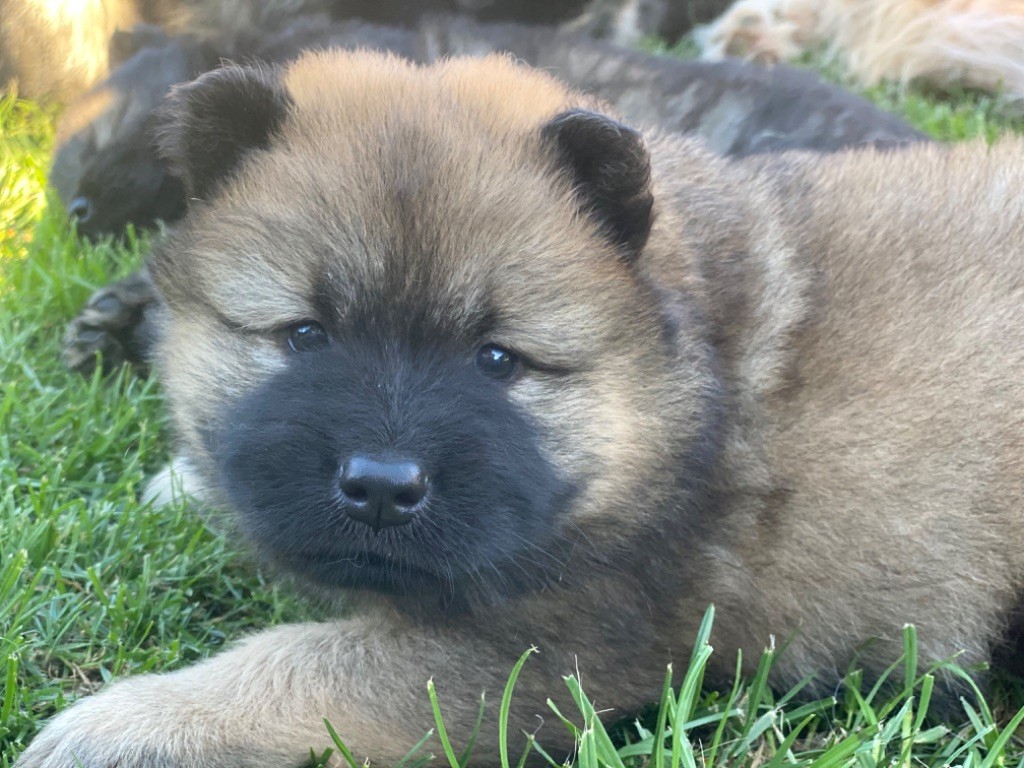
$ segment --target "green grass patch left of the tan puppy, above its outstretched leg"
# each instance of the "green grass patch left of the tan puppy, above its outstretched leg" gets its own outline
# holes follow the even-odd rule
[[[89,247],[45,209],[47,112],[0,101],[0,766],[70,697],[186,665],[300,609],[194,512],[136,501],[167,460],[159,388],[59,362],[89,293],[142,243]]]

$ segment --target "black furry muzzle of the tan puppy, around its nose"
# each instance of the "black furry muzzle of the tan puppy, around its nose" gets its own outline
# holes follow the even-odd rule
[[[559,516],[573,489],[537,428],[481,376],[471,352],[348,339],[294,355],[210,436],[243,529],[322,587],[366,588],[451,612],[561,574]],[[375,531],[345,513],[341,465],[416,461],[431,493],[407,525]],[[416,609],[414,608],[414,609]]]

